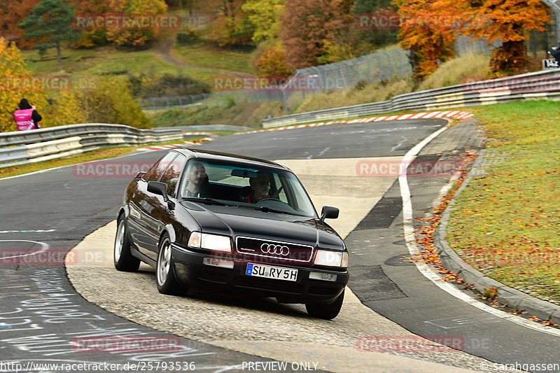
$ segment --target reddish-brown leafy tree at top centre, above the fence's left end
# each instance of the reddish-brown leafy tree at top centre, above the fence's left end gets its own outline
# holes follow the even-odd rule
[[[290,0],[281,15],[280,38],[286,48],[288,69],[319,63],[326,55],[325,43],[345,43],[353,22],[348,0]]]

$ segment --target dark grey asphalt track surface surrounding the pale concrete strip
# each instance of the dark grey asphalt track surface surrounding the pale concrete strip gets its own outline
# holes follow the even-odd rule
[[[397,159],[445,124],[444,120],[400,120],[290,129],[219,137],[200,148],[279,162],[286,160],[288,167],[293,169],[304,169],[307,160],[328,164],[347,159],[353,162],[349,167],[353,167],[354,174],[357,174],[359,167],[354,159]],[[417,159],[436,160],[453,155],[454,150],[460,153],[475,146],[472,129],[461,132],[461,128],[447,129],[426,146]],[[139,167],[154,162],[162,154],[160,151],[137,153],[114,161]],[[116,218],[130,178],[110,174],[95,176],[85,174],[83,170],[80,166],[64,167],[0,180],[4,217],[0,224],[0,248],[3,258],[10,252],[29,248],[50,252],[55,258],[57,253],[66,254],[87,234]],[[300,173],[296,171],[296,174],[299,176]],[[368,187],[367,184],[354,188],[355,184],[345,181],[344,173],[337,176],[333,172],[335,175],[330,184],[321,189],[312,185],[315,180],[312,170],[304,171],[304,174],[309,175],[302,178],[308,190],[313,189],[311,185],[318,193],[326,195],[330,188],[346,188],[348,197],[359,199],[367,188],[376,188],[376,185]],[[360,179],[367,183],[367,177]],[[463,351],[491,362],[519,364],[519,367],[560,363],[557,358],[558,334],[527,328],[472,307],[440,290],[414,264],[402,260],[410,254],[402,237],[400,188],[396,176],[385,179],[383,195],[377,198],[372,209],[365,211],[363,220],[352,227],[337,227],[339,232],[342,230],[344,235],[347,234],[345,242],[351,253],[349,287],[358,299],[418,335],[456,337],[464,342],[460,346]],[[448,179],[449,176],[408,178],[415,217],[424,216],[423,211],[433,205]],[[342,215],[344,206],[339,207]],[[333,220],[333,226],[335,222]],[[8,263],[3,260],[2,264],[0,363],[4,365],[0,365],[0,372],[15,372],[16,363],[22,364],[27,371],[33,368],[29,363],[120,363],[120,371],[125,371],[122,366],[125,363],[169,362],[171,365],[178,360],[195,362],[197,371],[247,371],[249,362],[274,360],[257,356],[257,353],[240,353],[185,338],[180,339],[179,349],[167,353],[80,353],[79,346],[76,346],[76,340],[80,338],[162,337],[162,332],[132,323],[87,302],[69,283],[61,262],[38,266],[12,265],[9,260]],[[152,285],[155,288],[155,283]],[[267,307],[275,312],[274,307],[278,306]],[[332,321],[336,322],[337,319]],[[174,341],[172,335],[167,337]],[[8,363],[13,365],[8,366]],[[268,370],[260,371],[273,371],[270,367],[272,365]],[[475,369],[473,366],[469,368]],[[493,368],[481,366],[479,370],[493,371]],[[453,368],[450,367],[449,371]]]

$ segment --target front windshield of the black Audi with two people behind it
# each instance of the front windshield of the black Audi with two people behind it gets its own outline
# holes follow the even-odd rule
[[[190,201],[224,202],[264,212],[316,217],[303,185],[289,171],[231,163],[191,160],[179,197]]]

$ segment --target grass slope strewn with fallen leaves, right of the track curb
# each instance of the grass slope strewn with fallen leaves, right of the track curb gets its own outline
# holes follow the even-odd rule
[[[560,304],[560,122],[555,101],[470,108],[494,164],[451,212],[447,241],[484,274]]]

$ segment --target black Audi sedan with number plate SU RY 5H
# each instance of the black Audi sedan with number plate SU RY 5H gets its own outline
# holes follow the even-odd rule
[[[286,167],[176,148],[128,185],[118,213],[115,267],[155,268],[158,290],[210,288],[305,304],[332,319],[348,283],[348,251]]]

